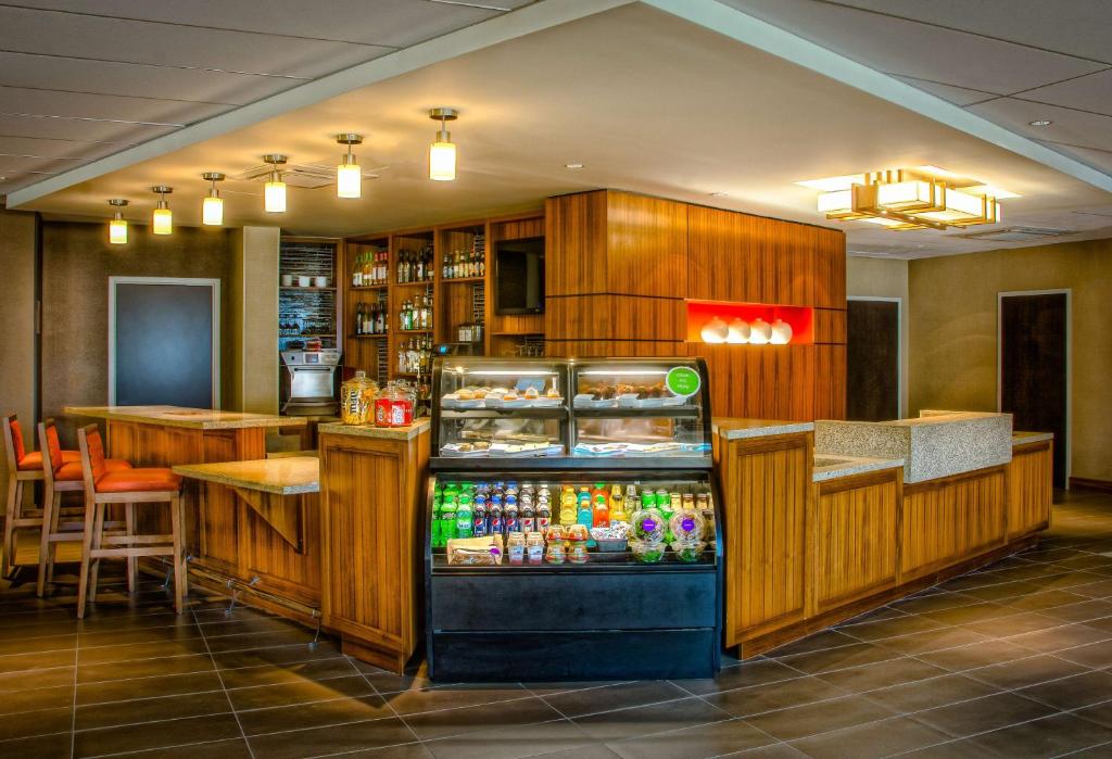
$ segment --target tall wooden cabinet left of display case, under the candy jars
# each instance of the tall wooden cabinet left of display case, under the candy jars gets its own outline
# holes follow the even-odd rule
[[[344,650],[400,672],[419,639],[429,436],[320,436],[326,627]]]

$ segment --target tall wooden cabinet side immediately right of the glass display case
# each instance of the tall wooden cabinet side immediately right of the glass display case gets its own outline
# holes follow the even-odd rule
[[[726,646],[801,621],[813,436],[718,440]]]

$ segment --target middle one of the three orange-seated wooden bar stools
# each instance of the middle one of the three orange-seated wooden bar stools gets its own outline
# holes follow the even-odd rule
[[[53,419],[39,422],[39,450],[46,453],[42,468],[42,530],[39,538],[39,577],[36,592],[42,598],[47,582],[54,579],[54,558],[59,542],[80,542],[85,533],[85,519],[76,522],[60,522],[61,517],[81,516],[85,507],[62,508],[63,492],[81,492],[85,490],[85,478],[81,473],[81,451],[76,461],[67,462],[66,453],[58,439],[58,427]],[[122,459],[106,459],[107,471],[131,469],[131,465]],[[130,515],[130,512],[128,512]],[[127,535],[133,532],[133,525],[121,521],[106,522],[106,528],[125,529]],[[135,559],[128,560],[128,590],[135,592]]]

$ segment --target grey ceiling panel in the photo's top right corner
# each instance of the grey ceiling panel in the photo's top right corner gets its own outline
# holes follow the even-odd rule
[[[835,0],[1112,63],[1109,0]]]

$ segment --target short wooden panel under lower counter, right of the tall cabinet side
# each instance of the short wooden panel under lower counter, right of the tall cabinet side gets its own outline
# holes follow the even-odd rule
[[[900,545],[900,471],[821,482],[808,525],[814,556],[811,613],[891,588]]]

